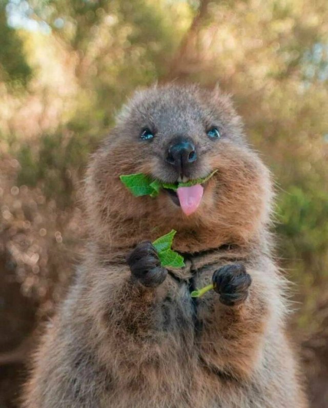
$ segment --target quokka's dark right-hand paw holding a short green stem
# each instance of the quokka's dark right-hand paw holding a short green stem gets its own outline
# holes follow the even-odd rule
[[[247,299],[251,276],[241,263],[221,267],[212,277],[214,290],[220,295],[220,302],[228,306],[240,304]]]

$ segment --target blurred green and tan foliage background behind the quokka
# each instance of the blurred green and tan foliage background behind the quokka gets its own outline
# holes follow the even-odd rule
[[[326,0],[0,0],[0,408],[87,232],[88,156],[136,87],[231,92],[274,173],[277,261],[313,408],[328,407]]]

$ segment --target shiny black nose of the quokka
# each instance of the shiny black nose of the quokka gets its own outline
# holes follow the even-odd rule
[[[166,161],[179,173],[197,160],[195,145],[183,137],[174,139],[168,149]]]

